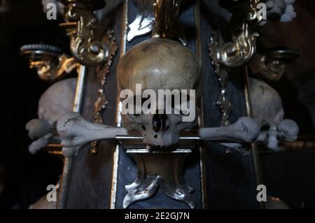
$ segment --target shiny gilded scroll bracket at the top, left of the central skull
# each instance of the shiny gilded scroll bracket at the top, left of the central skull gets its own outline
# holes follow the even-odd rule
[[[61,0],[66,6],[65,24],[71,36],[70,49],[74,57],[86,66],[97,66],[106,62],[107,48],[95,40],[94,29],[97,17],[94,10],[103,8],[104,1],[99,0]]]

